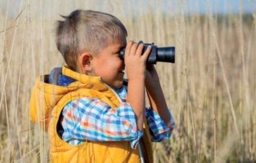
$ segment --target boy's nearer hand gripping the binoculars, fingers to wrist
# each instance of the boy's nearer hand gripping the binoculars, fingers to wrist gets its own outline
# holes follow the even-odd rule
[[[145,53],[141,55],[143,46],[143,44],[139,45],[129,41],[125,48],[124,63],[129,80],[145,79],[146,61],[150,54],[151,46],[148,46]]]

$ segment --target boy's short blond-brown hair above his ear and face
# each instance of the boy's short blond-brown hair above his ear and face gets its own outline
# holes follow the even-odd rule
[[[115,16],[92,10],[76,10],[57,22],[56,45],[66,64],[76,71],[78,56],[98,55],[115,39],[125,39],[127,31]]]

